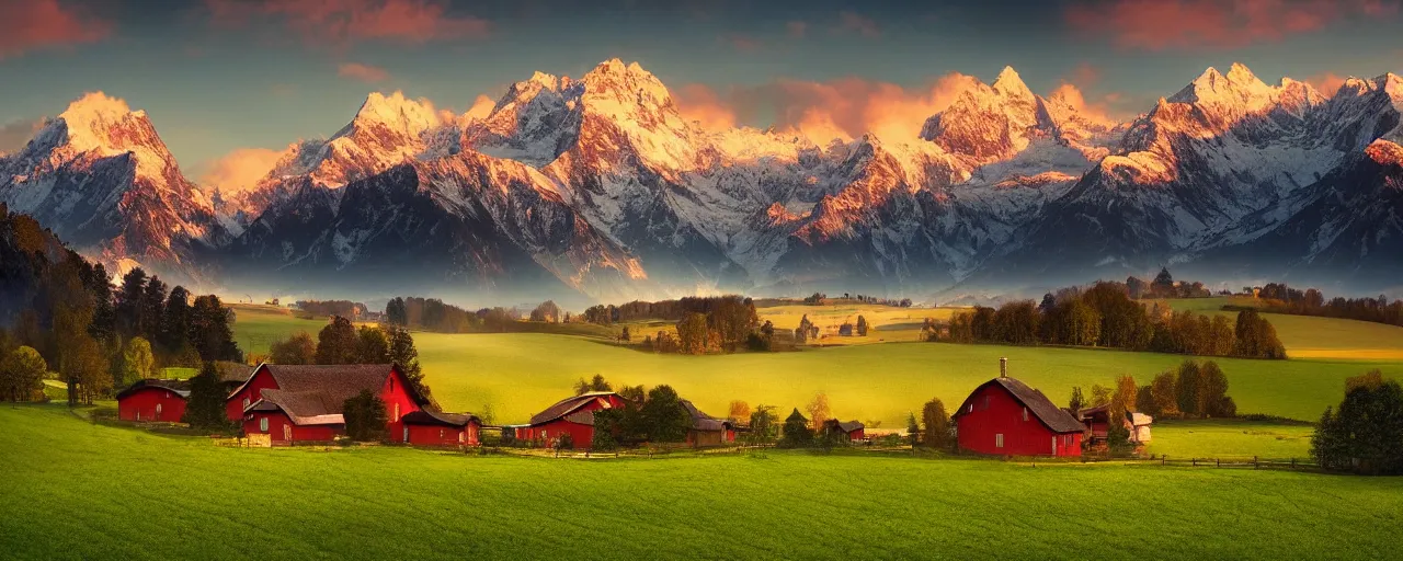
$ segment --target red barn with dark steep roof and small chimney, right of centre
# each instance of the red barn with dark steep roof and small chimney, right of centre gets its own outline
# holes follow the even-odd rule
[[[1007,376],[985,381],[954,414],[960,447],[1000,456],[1082,456],[1076,417]]]

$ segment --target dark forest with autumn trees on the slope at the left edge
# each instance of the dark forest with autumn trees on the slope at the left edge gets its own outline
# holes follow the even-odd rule
[[[67,384],[70,404],[91,404],[161,367],[241,362],[233,311],[217,296],[192,297],[140,268],[114,289],[101,264],[0,205],[0,325],[8,325],[0,327],[0,387],[8,400],[43,400],[42,379],[51,377]]]

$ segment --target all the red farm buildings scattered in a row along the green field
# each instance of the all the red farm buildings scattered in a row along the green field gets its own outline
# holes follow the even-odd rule
[[[331,442],[347,433],[342,408],[347,400],[369,391],[384,404],[384,435],[394,442],[417,446],[480,446],[483,421],[470,412],[445,412],[415,391],[396,365],[272,365],[262,363],[247,373],[222,373],[229,421],[250,440],[267,446]],[[189,400],[185,380],[140,380],[118,396],[118,417],[133,422],[180,422]],[[595,412],[617,410],[627,398],[613,391],[588,391],[560,400],[526,424],[501,429],[516,440],[551,446],[568,439],[588,449],[595,435]],[[748,428],[734,419],[707,415],[692,401],[680,400],[692,424],[686,445],[725,446]],[[975,390],[960,404],[951,419],[955,440],[965,452],[995,456],[1080,456],[1083,443],[1104,446],[1111,422],[1121,422],[1131,443],[1149,442],[1149,415],[1128,412],[1111,419],[1106,405],[1076,411],[1056,407],[1042,391],[1007,376],[1000,362],[999,377]],[[828,419],[828,435],[852,442],[867,440],[859,421]]]

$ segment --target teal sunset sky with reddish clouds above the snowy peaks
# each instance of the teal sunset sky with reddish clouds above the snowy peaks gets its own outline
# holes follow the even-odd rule
[[[1400,29],[1399,0],[0,0],[0,151],[102,91],[146,109],[187,175],[233,184],[370,91],[478,114],[612,58],[713,129],[915,135],[1005,66],[1125,119],[1233,62],[1326,94],[1403,73]]]

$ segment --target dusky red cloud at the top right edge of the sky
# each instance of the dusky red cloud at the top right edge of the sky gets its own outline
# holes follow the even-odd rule
[[[1381,17],[1393,0],[1110,0],[1070,4],[1066,21],[1125,49],[1240,48],[1319,31],[1351,15]]]

